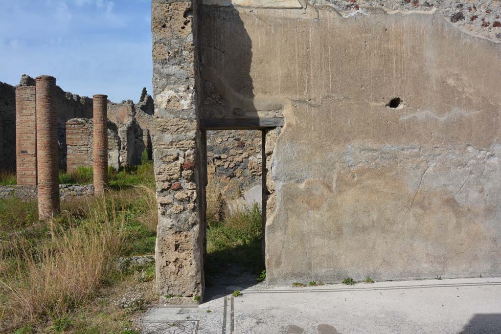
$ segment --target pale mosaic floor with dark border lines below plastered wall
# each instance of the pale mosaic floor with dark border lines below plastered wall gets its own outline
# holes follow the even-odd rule
[[[144,333],[501,333],[501,278],[311,288],[261,283],[231,297],[235,289],[198,307],[152,309]]]

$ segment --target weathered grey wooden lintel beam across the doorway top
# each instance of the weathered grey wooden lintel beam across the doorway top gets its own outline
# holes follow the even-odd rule
[[[265,130],[284,126],[284,119],[273,118],[202,118],[202,130]]]

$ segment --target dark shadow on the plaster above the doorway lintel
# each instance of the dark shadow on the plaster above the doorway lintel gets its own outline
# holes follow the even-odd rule
[[[252,65],[252,40],[233,7],[203,6],[200,27],[201,74],[210,118],[257,118]]]

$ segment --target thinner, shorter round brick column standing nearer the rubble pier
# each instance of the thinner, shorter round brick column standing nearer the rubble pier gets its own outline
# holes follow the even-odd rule
[[[94,95],[94,191],[108,188],[108,96]]]

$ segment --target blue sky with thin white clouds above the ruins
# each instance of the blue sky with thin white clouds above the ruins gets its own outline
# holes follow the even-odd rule
[[[0,81],[52,75],[65,91],[151,94],[151,0],[0,0]]]

